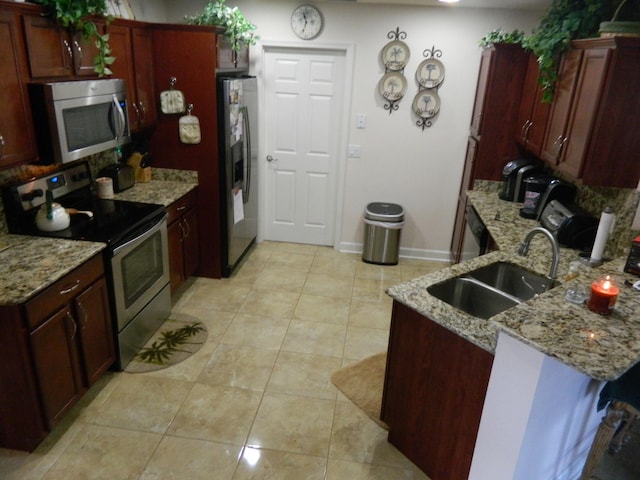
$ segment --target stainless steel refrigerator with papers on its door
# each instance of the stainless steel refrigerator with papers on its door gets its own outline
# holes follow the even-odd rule
[[[248,76],[217,82],[222,276],[228,277],[258,233],[258,82]]]

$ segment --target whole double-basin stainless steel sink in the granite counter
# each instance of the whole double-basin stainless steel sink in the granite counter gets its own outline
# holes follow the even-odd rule
[[[553,280],[518,265],[496,262],[427,287],[434,297],[477,318],[487,319],[550,288]]]

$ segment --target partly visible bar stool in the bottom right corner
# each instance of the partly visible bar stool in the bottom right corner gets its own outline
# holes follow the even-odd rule
[[[640,416],[640,363],[602,388],[598,411],[604,407],[607,414],[593,439],[580,480],[591,478],[607,447],[612,454],[617,453],[629,439],[629,431]]]

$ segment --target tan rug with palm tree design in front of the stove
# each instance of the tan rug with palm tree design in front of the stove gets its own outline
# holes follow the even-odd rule
[[[190,315],[172,315],[124,369],[128,373],[153,372],[180,363],[207,341],[204,323]]]

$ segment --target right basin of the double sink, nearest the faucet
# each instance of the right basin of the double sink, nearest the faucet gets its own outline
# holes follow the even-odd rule
[[[507,262],[491,263],[467,273],[467,276],[520,300],[529,300],[554,286],[554,281],[550,278]]]

